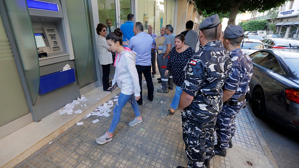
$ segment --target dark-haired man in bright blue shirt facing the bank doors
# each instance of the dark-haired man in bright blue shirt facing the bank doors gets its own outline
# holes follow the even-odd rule
[[[127,16],[128,21],[120,26],[120,30],[123,32],[123,42],[130,40],[131,37],[134,36],[133,26],[134,26],[134,15],[128,14]],[[126,45],[123,45],[126,47]]]

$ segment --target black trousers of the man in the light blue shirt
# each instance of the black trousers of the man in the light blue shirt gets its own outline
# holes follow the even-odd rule
[[[149,100],[153,100],[154,98],[154,85],[152,83],[152,75],[150,73],[151,65],[149,66],[136,65],[136,69],[138,72],[139,85],[141,90],[140,99],[137,101],[137,103],[142,104],[142,74],[144,75],[145,81],[147,82],[147,98]]]

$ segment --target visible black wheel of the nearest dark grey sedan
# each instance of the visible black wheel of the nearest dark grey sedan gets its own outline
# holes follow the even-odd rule
[[[252,92],[251,97],[252,112],[259,118],[266,117],[266,103],[263,89],[257,87]]]

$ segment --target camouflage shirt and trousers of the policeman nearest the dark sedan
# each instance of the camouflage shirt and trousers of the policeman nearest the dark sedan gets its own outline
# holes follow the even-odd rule
[[[249,91],[249,82],[253,73],[252,59],[241,51],[241,48],[232,50],[233,66],[231,74],[225,81],[224,88],[236,91],[231,98],[244,97]],[[235,119],[239,111],[245,106],[246,100],[237,103],[237,106],[223,104],[222,110],[217,116],[216,134],[217,144],[221,149],[228,148],[228,141],[235,134]]]

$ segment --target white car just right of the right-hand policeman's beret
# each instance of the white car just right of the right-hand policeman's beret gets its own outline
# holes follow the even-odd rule
[[[263,42],[257,39],[244,39],[244,42],[241,42],[240,45],[241,50],[246,54],[251,54],[257,50],[264,49],[265,46]]]

